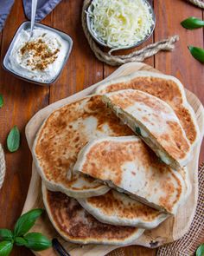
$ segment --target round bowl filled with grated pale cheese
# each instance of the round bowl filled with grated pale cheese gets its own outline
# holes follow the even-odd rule
[[[155,16],[144,0],[92,0],[87,15],[92,36],[112,49],[124,49],[147,39]]]

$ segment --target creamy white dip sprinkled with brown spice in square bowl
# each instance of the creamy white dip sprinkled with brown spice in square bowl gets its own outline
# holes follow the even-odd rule
[[[10,54],[10,69],[37,82],[50,82],[61,71],[68,43],[53,31],[36,28],[20,31]]]

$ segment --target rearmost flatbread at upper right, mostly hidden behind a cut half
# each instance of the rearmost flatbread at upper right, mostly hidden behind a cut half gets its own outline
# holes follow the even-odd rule
[[[105,94],[122,89],[142,90],[167,102],[174,109],[175,115],[181,122],[191,147],[194,147],[199,140],[200,131],[194,110],[188,104],[182,82],[175,76],[150,71],[137,71],[131,75],[101,83],[96,89],[96,93]]]

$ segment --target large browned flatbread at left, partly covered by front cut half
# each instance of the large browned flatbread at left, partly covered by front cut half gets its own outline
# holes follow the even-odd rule
[[[67,104],[48,116],[36,135],[32,154],[46,187],[71,197],[105,194],[110,188],[92,178],[73,173],[80,149],[104,135],[132,135],[100,95]]]

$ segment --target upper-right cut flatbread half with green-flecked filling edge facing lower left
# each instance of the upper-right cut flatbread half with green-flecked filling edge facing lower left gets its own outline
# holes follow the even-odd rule
[[[175,169],[188,164],[190,144],[166,102],[136,89],[105,94],[102,100],[163,162]]]

